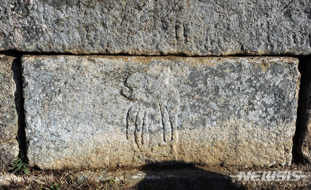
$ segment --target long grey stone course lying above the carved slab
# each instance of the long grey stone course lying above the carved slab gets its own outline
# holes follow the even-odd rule
[[[1,0],[0,50],[311,54],[310,0]]]

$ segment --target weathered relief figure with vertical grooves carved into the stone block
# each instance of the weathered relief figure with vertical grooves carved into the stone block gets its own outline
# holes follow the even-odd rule
[[[180,96],[169,77],[169,68],[156,75],[134,73],[121,90],[123,96],[135,101],[127,113],[127,139],[134,140],[141,150],[178,140]]]

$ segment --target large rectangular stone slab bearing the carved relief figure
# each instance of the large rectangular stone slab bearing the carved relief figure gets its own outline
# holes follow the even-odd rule
[[[43,169],[290,164],[300,74],[283,57],[24,56]]]

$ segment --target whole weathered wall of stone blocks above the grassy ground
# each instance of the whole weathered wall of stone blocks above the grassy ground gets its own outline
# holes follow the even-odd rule
[[[285,165],[293,150],[311,162],[311,77],[301,81],[297,59],[311,60],[310,7],[2,0],[0,51],[18,59],[0,55],[0,168],[17,136],[43,169]]]

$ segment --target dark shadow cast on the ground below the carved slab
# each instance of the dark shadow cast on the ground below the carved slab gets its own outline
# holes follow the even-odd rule
[[[138,190],[243,190],[229,175],[215,173],[184,162],[160,162],[143,166],[146,177]]]

